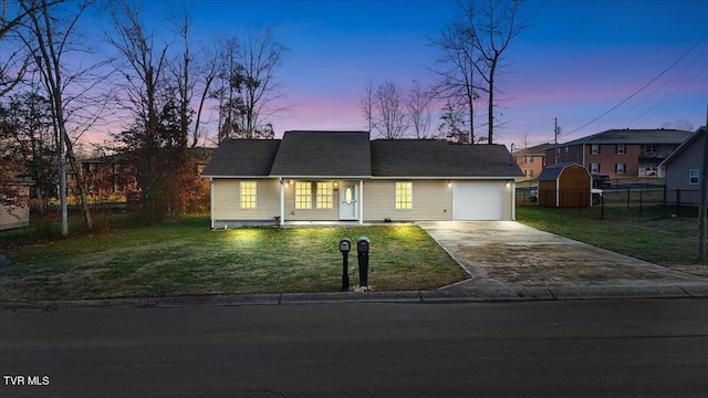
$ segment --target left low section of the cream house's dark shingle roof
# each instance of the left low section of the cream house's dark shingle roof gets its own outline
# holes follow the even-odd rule
[[[225,139],[202,177],[268,177],[280,139]]]

